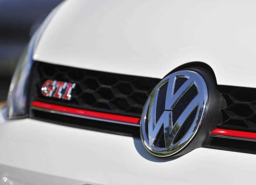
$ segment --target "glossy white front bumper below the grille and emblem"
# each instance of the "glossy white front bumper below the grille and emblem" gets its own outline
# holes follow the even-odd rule
[[[68,182],[74,179],[71,184],[83,181],[108,185],[226,185],[255,181],[253,154],[199,148],[178,159],[159,159],[144,149],[140,138],[32,119],[0,123],[0,148],[0,167],[5,166],[0,175],[8,174],[22,182],[30,181],[24,181],[19,174],[36,174],[41,179],[48,176],[55,178],[56,184],[62,178]]]

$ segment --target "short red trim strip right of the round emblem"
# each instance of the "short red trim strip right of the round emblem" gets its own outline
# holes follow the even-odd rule
[[[220,136],[256,139],[256,133],[254,133],[254,132],[244,132],[244,131],[237,131],[237,130],[215,129],[211,132],[211,134],[212,135],[220,135]]]

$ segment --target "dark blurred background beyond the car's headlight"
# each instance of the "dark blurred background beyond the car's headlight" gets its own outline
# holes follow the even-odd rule
[[[0,107],[31,36],[62,0],[0,0]]]

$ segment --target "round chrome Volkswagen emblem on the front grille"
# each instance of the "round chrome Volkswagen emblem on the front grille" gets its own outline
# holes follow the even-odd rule
[[[164,78],[151,92],[140,121],[140,136],[153,155],[170,157],[196,135],[208,105],[204,78],[183,70]]]

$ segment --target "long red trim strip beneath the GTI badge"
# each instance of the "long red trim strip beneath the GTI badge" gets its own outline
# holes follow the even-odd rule
[[[31,103],[31,105],[33,107],[43,108],[43,109],[47,109],[47,110],[54,110],[54,111],[59,111],[59,112],[83,115],[83,116],[118,121],[118,122],[139,124],[139,121],[140,121],[140,118],[136,118],[136,117],[108,114],[108,113],[102,113],[102,112],[96,112],[96,111],[84,110],[84,109],[78,109],[78,108],[71,108],[71,107],[64,107],[64,106],[54,105],[54,104],[50,104],[50,103],[44,103],[44,102],[40,102],[40,101],[33,101]]]

